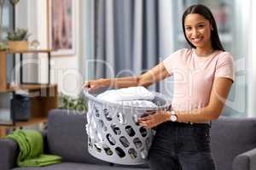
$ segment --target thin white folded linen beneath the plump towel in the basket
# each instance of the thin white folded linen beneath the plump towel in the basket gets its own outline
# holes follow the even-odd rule
[[[119,105],[129,105],[132,107],[150,107],[150,108],[157,108],[157,105],[155,105],[152,101],[148,100],[131,100],[131,101],[118,101],[116,102]]]

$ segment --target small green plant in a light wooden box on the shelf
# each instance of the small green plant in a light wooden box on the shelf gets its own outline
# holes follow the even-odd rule
[[[27,50],[27,39],[30,35],[25,28],[18,28],[16,31],[8,32],[8,46],[10,50]]]

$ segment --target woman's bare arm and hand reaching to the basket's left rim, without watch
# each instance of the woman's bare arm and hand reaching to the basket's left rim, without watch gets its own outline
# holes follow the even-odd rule
[[[169,73],[163,63],[154,66],[149,71],[138,77],[121,77],[113,79],[98,79],[90,82],[85,82],[84,87],[89,89],[96,89],[100,87],[111,87],[111,88],[128,88],[135,86],[148,87],[154,82],[159,82],[166,77],[169,77]]]

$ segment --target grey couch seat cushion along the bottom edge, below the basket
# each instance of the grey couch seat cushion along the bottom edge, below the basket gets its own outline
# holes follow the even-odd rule
[[[110,167],[103,165],[83,164],[83,163],[58,163],[47,167],[16,167],[13,170],[130,170],[130,167]],[[132,168],[132,170],[145,170]]]

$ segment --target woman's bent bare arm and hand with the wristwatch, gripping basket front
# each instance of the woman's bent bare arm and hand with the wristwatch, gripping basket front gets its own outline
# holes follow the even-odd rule
[[[175,111],[177,122],[208,122],[218,119],[225,101],[230,92],[232,80],[224,77],[217,77],[212,85],[212,92],[209,104],[206,107],[195,109],[193,111]],[[170,111],[158,111],[156,114],[140,119],[144,127],[155,127],[158,124],[170,121]]]

